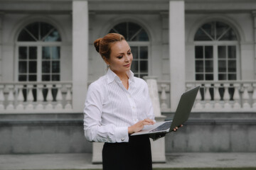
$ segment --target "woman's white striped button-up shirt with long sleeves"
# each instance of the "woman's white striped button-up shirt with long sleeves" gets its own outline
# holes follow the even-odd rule
[[[105,76],[90,84],[84,109],[84,130],[92,142],[129,142],[128,127],[139,120],[154,120],[146,81],[129,77],[125,89],[117,74],[108,69]]]

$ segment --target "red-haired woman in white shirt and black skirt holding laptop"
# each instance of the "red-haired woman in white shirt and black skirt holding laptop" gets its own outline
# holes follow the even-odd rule
[[[148,86],[130,70],[131,48],[117,33],[95,40],[94,45],[108,70],[87,90],[85,137],[105,142],[103,170],[152,169],[149,137],[129,136],[155,122]]]

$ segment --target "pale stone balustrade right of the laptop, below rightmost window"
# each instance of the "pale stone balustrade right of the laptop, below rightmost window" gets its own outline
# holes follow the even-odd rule
[[[256,111],[256,81],[190,81],[201,86],[193,111]]]

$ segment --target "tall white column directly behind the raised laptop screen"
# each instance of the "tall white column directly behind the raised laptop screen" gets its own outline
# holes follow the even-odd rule
[[[185,7],[183,0],[169,1],[169,54],[171,111],[176,111],[185,84]]]

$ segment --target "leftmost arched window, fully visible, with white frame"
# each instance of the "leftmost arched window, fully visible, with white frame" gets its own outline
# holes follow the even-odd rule
[[[18,35],[18,81],[60,81],[60,34],[48,23],[31,23]]]

